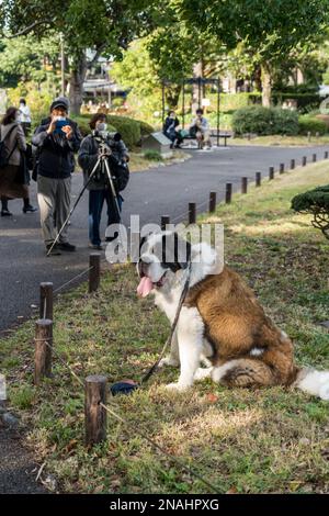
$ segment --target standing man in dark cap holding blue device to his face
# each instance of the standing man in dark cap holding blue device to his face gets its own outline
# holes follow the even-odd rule
[[[46,251],[70,211],[73,155],[82,141],[77,123],[67,117],[68,111],[68,99],[55,99],[50,105],[50,116],[42,121],[32,138],[32,144],[37,147],[37,201]],[[76,250],[76,246],[68,242],[67,226],[53,247],[52,255],[60,255],[63,250]]]

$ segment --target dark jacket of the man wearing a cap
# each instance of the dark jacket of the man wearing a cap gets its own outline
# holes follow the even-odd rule
[[[43,120],[32,137],[32,144],[38,149],[37,173],[46,178],[65,179],[75,170],[73,154],[79,150],[82,136],[78,124],[70,119],[68,125],[73,130],[70,139],[64,134],[47,134],[50,120],[50,116]]]

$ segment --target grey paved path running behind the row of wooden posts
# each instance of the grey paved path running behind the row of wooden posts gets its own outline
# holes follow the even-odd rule
[[[225,183],[240,189],[240,178],[254,180],[254,172],[268,175],[269,167],[279,169],[280,162],[288,167],[291,158],[296,164],[317,153],[324,157],[325,147],[227,147],[213,152],[191,152],[193,158],[183,164],[159,167],[132,173],[124,192],[123,222],[129,225],[129,215],[139,214],[140,224],[159,223],[161,215],[171,221],[186,220],[189,202],[196,202],[198,212],[207,210],[209,191],[217,191],[218,200],[225,194]],[[81,173],[72,181],[73,199],[82,184]],[[36,204],[35,183],[31,188],[32,203]],[[31,314],[31,305],[38,303],[38,284],[53,281],[54,288],[69,281],[88,268],[88,194],[73,213],[69,229],[70,240],[78,246],[75,254],[46,258],[41,240],[38,213],[23,214],[22,201],[10,202],[13,217],[0,218],[0,332]],[[103,216],[105,218],[105,216]],[[104,226],[105,228],[105,226]],[[19,318],[18,318],[19,317]]]

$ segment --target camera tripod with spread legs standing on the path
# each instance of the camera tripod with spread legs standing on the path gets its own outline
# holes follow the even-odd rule
[[[109,154],[110,152],[110,154]],[[97,172],[99,172],[100,170],[100,173],[101,175],[104,175],[109,181],[109,186],[110,186],[110,190],[111,190],[111,193],[112,193],[112,197],[113,197],[113,200],[114,200],[114,205],[115,205],[115,210],[116,210],[116,214],[117,214],[117,222],[120,222],[121,220],[121,212],[120,212],[120,206],[118,206],[118,201],[117,201],[117,195],[116,195],[116,191],[115,191],[115,188],[114,188],[114,183],[113,183],[113,178],[112,178],[112,175],[111,175],[111,170],[110,170],[110,166],[109,166],[109,157],[111,156],[111,149],[110,147],[107,147],[106,145],[104,144],[100,144],[99,146],[99,158],[97,160],[97,164],[95,166],[93,167],[92,171],[90,172],[90,176],[88,178],[88,181],[86,182],[84,187],[82,188],[81,192],[79,193],[78,195],[78,199],[77,201],[75,202],[75,205],[70,210],[66,221],[64,222],[63,226],[60,227],[55,240],[53,242],[48,253],[47,253],[47,256],[50,255],[54,246],[57,244],[65,226],[67,225],[67,223],[69,222],[73,211],[76,210],[80,199],[82,198],[83,195],[83,192],[86,191],[88,184],[92,181],[93,177],[97,175]]]

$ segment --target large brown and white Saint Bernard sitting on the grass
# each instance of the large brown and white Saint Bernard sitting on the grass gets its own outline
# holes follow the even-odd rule
[[[171,260],[163,251],[168,239],[174,248]],[[178,253],[182,245],[184,260]],[[152,292],[171,324],[190,274],[170,354],[159,364],[180,367],[178,382],[168,388],[182,391],[194,380],[212,378],[229,388],[297,386],[329,400],[329,371],[296,367],[291,339],[265,315],[238,273],[226,265],[218,270],[208,244],[191,246],[172,232],[151,234],[141,239],[137,271],[138,295]]]

